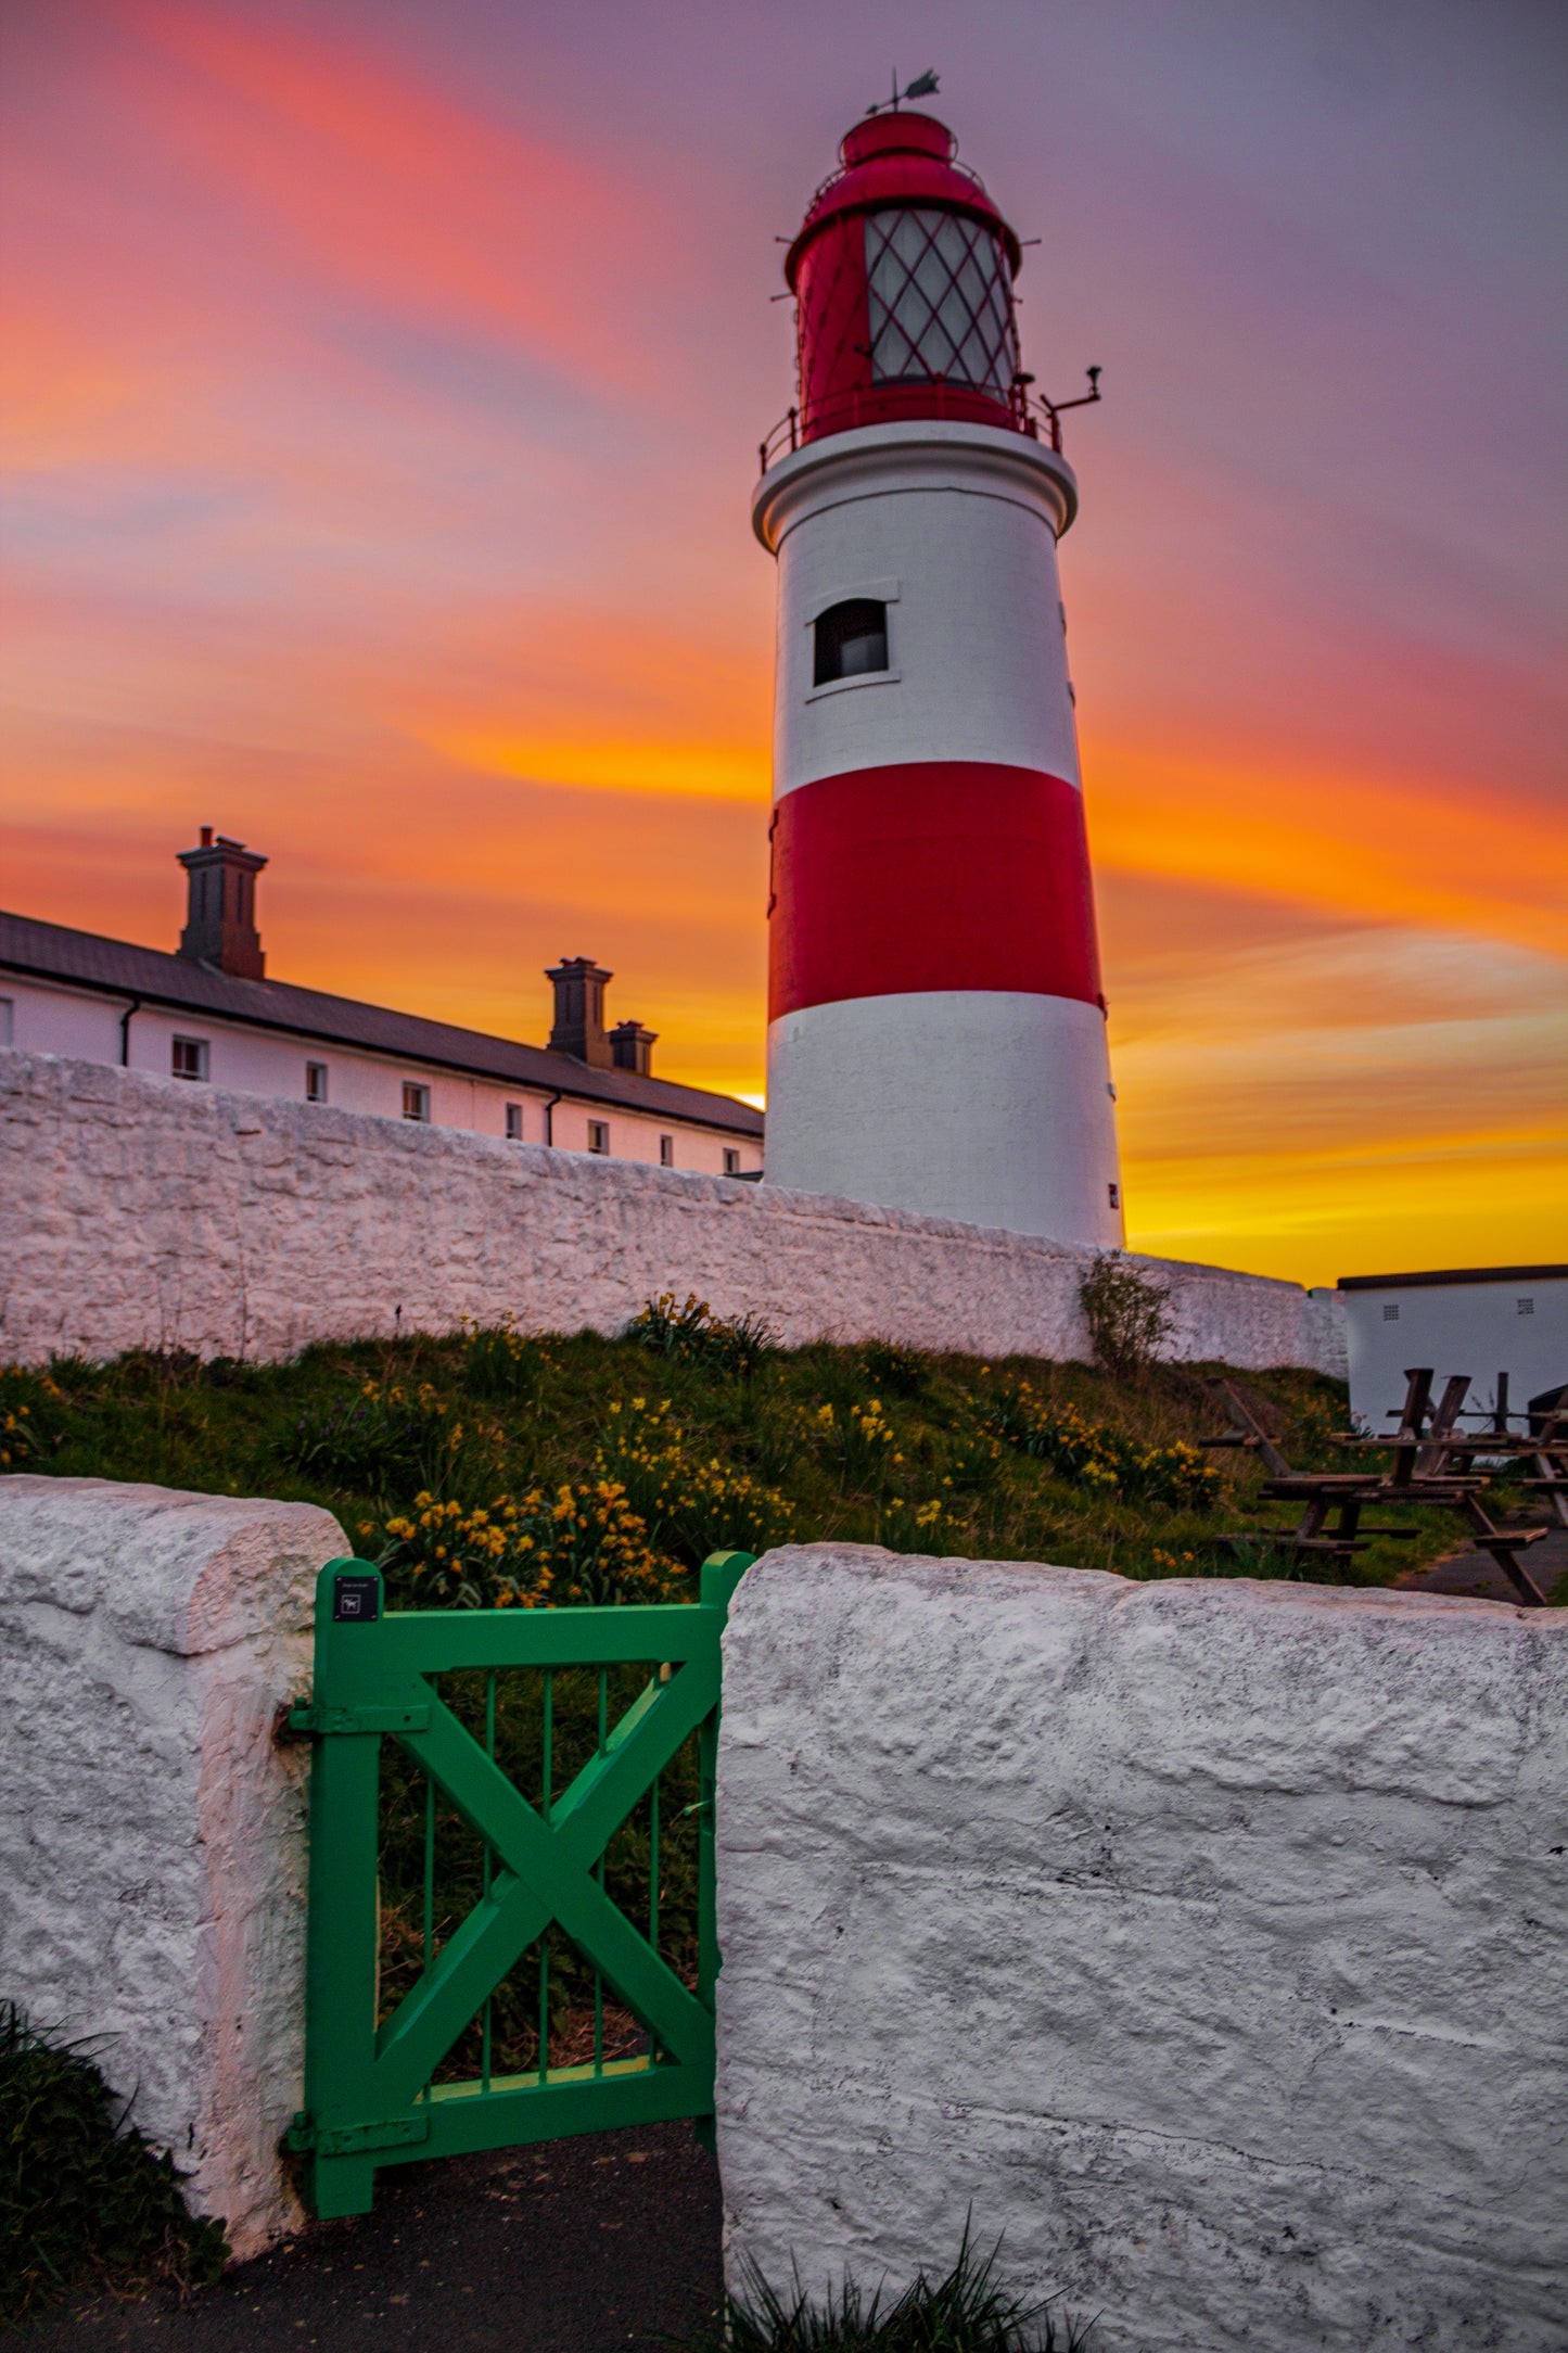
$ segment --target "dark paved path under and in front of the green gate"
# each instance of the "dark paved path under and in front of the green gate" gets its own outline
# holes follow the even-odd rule
[[[200,2289],[99,2304],[5,2353],[623,2353],[717,2327],[719,2174],[689,2125],[395,2165],[376,2212]]]

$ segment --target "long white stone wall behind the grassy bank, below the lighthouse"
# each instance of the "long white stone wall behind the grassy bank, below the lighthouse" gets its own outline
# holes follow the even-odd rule
[[[788,1341],[1086,1353],[1091,1254],[865,1202],[0,1052],[0,1360],[277,1358],[461,1318],[614,1332],[658,1292]],[[1345,1372],[1338,1299],[1143,1259],[1173,1353]]]

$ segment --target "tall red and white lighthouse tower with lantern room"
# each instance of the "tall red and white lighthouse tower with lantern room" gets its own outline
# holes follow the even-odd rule
[[[766,1172],[1117,1247],[1056,567],[1079,494],[1020,365],[1020,259],[900,104],[846,134],[785,256],[799,393],[752,499],[778,560]]]

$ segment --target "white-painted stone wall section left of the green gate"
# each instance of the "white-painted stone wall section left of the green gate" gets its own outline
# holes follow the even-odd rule
[[[237,2257],[301,2221],[313,1504],[0,1478],[0,1995],[96,2059]]]

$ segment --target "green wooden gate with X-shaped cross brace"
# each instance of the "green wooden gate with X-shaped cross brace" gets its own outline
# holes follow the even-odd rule
[[[378,2165],[712,2115],[719,1635],[750,1562],[623,1609],[383,1612],[374,1567],[322,1569],[289,1713],[315,1741],[289,2146],[317,2214],[364,2214]]]

